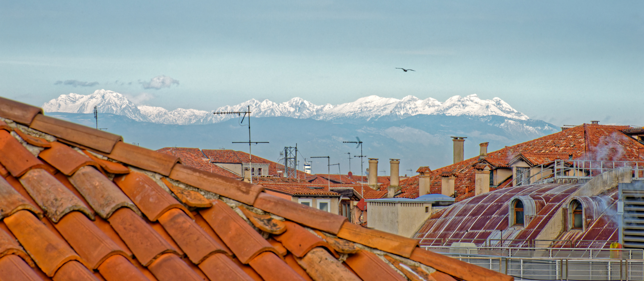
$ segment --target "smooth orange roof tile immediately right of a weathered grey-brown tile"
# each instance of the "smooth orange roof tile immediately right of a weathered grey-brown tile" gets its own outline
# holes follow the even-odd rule
[[[150,221],[156,221],[171,208],[180,208],[186,213],[190,213],[184,205],[176,201],[172,195],[168,194],[146,174],[132,171],[129,174],[115,177],[114,182]]]

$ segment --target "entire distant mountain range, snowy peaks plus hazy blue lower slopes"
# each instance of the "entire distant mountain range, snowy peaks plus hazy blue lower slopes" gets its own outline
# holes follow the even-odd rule
[[[354,143],[343,143],[355,141],[355,137],[364,141],[363,155],[401,159],[401,170],[411,170],[401,174],[413,174],[419,166],[451,164],[450,136],[468,137],[465,158],[470,158],[478,155],[478,143],[489,142],[488,149],[493,151],[558,131],[553,124],[529,119],[500,98],[481,100],[476,95],[453,96],[445,102],[415,96],[366,96],[339,105],[315,105],[301,98],[279,104],[252,99],[209,112],[137,106],[124,95],[97,90],[91,95],[61,95],[45,103],[43,109],[50,116],[94,127],[94,106],[102,113],[100,127],[143,147],[226,147],[243,151],[249,149],[247,144],[231,142],[248,140],[246,127],[236,119],[229,120],[236,116],[212,112],[245,111],[250,106],[252,140],[269,141],[254,145],[253,154],[278,161],[284,147],[298,145],[299,159],[330,156],[332,164],[341,163],[331,172],[337,173],[340,168],[345,174],[348,152],[354,159],[352,171],[359,173],[359,164],[355,164],[359,158],[354,156],[361,150]],[[313,159],[313,172],[325,174],[327,160],[319,159]],[[388,170],[386,161],[381,162],[379,171]],[[384,172],[379,174],[384,176]]]

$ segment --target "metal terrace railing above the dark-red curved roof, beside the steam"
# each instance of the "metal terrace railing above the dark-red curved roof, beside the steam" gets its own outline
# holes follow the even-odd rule
[[[616,168],[631,167],[634,179],[644,179],[643,161],[554,160],[536,165],[516,175],[516,185],[535,183],[579,183]]]

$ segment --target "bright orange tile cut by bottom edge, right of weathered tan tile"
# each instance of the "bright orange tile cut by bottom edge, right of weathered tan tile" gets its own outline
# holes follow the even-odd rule
[[[393,270],[384,260],[365,249],[349,255],[345,262],[363,280],[406,281],[406,278]]]

